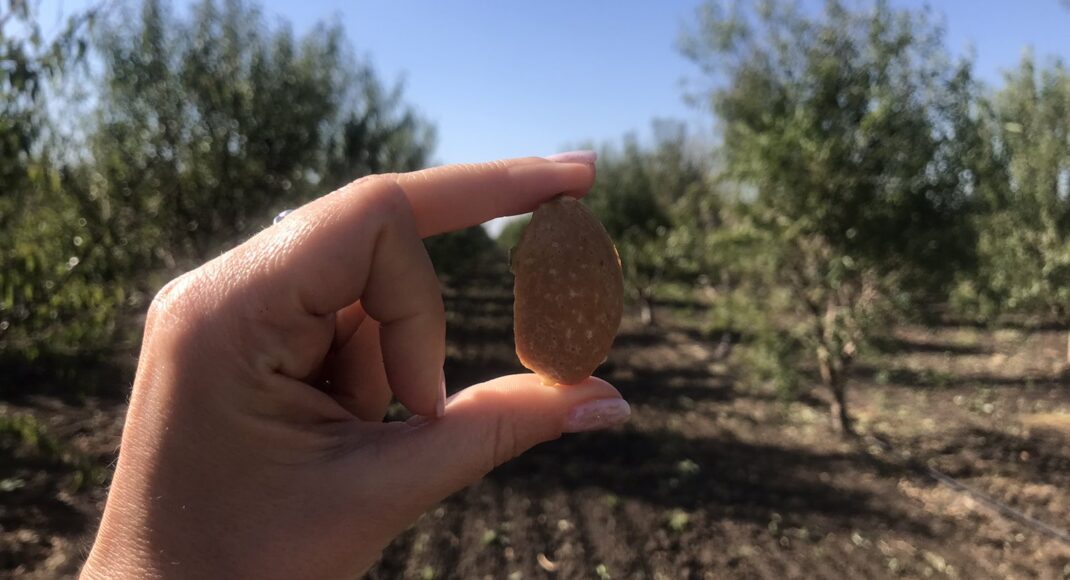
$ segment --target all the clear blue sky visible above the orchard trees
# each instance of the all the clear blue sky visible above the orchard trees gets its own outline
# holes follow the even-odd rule
[[[655,117],[712,126],[708,115],[682,98],[682,80],[697,71],[674,47],[698,0],[263,1],[270,18],[293,22],[299,33],[318,20],[340,21],[385,79],[403,77],[408,101],[438,125],[440,163],[643,135]],[[44,0],[43,13],[89,2]],[[931,5],[946,16],[951,49],[972,47],[978,73],[991,82],[1026,46],[1070,59],[1070,5],[1060,0]]]

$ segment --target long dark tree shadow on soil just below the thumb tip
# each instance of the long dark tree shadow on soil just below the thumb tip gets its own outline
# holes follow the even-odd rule
[[[617,430],[551,442],[500,468],[490,479],[523,492],[547,487],[597,487],[666,508],[705,510],[768,521],[770,513],[821,513],[845,528],[908,529],[921,522],[889,508],[878,495],[836,482],[846,473],[905,476],[905,468],[863,453],[817,454],[731,439],[690,439],[667,430]],[[622,476],[627,474],[626,476]]]

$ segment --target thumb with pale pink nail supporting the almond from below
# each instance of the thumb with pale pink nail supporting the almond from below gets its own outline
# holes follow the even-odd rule
[[[398,459],[389,463],[404,470],[392,479],[404,482],[408,502],[423,513],[539,443],[629,415],[621,394],[600,379],[546,386],[534,375],[502,377],[458,393],[443,417],[416,417],[387,443]]]

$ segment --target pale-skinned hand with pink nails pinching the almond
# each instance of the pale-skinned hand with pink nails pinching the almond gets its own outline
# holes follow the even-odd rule
[[[377,175],[153,301],[83,578],[354,578],[422,513],[628,408],[608,383],[502,377],[446,401],[421,238],[583,196],[593,156]],[[383,423],[392,397],[414,413]]]

